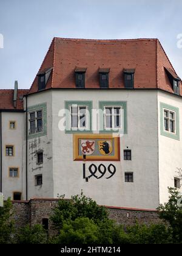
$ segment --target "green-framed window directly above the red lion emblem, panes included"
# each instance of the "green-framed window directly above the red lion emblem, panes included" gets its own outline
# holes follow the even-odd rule
[[[92,101],[65,101],[66,133],[92,132]]]

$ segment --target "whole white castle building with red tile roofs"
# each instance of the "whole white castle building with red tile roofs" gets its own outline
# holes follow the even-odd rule
[[[30,90],[0,90],[2,193],[155,209],[181,190],[181,93],[158,40],[54,38]]]

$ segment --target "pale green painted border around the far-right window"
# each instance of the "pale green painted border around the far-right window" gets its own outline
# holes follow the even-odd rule
[[[176,116],[176,133],[166,132],[164,130],[164,108],[167,110],[172,110],[175,112]],[[168,105],[166,103],[160,102],[160,130],[161,135],[166,136],[168,138],[173,138],[174,140],[180,140],[180,114],[179,114],[179,108],[174,107],[172,105]]]

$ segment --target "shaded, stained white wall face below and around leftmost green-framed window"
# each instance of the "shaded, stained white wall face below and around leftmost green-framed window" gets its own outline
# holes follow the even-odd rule
[[[47,135],[28,140],[28,199],[53,197],[52,167],[52,92],[30,95],[27,107],[47,103]],[[37,165],[36,152],[43,151],[44,162]],[[35,176],[42,174],[42,186],[35,186]]]

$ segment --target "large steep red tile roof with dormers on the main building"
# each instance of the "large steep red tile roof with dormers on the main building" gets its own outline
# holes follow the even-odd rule
[[[51,67],[45,90],[75,88],[75,68],[85,67],[86,88],[99,88],[99,68],[110,68],[109,88],[124,88],[124,69],[135,69],[135,88],[160,88],[173,93],[164,67],[175,70],[158,39],[53,38],[39,73]],[[29,93],[36,91],[37,76]]]

